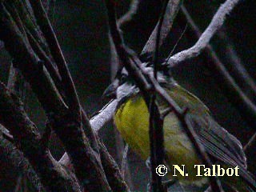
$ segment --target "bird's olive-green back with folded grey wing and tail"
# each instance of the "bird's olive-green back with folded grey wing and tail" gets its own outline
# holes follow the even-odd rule
[[[232,167],[239,166],[240,176],[256,191],[255,179],[246,170],[246,155],[238,139],[214,121],[210,116],[210,110],[194,94],[177,83],[170,83],[165,88],[181,108],[189,109],[190,122],[207,154],[218,162]]]

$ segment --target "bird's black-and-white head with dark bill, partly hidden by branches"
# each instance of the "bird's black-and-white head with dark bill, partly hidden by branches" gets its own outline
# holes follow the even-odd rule
[[[153,67],[150,62],[142,63],[142,67],[146,73],[153,74]],[[170,68],[165,62],[158,67],[158,82],[164,86],[170,82],[174,82],[170,75]],[[133,94],[138,94],[139,89],[136,86],[134,79],[128,74],[127,70],[123,67],[118,71],[114,81],[106,88],[103,93],[103,98],[117,98],[119,101],[129,98]]]

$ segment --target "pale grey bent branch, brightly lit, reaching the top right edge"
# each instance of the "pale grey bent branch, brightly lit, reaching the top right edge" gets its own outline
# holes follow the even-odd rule
[[[216,31],[223,25],[223,22],[226,19],[226,16],[230,14],[231,10],[234,9],[240,2],[239,0],[226,0],[218,8],[216,14],[214,14],[214,18],[210,22],[210,25],[206,28],[206,30],[202,33],[201,37],[198,39],[198,42],[194,44],[194,46],[190,47],[187,50],[182,50],[178,54],[174,54],[169,60],[170,66],[176,66],[178,63],[183,62],[189,58],[194,58],[198,56],[202,52],[203,49],[206,48],[210,39],[214,36]]]

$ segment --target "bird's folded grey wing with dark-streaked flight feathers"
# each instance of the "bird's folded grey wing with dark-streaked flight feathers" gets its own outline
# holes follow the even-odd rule
[[[210,115],[192,115],[191,122],[208,154],[230,166],[246,169],[246,155],[237,138],[218,125]]]

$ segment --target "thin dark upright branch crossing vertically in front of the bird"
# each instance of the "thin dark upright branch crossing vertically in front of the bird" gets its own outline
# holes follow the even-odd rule
[[[159,54],[159,46],[161,44],[162,38],[165,38],[166,33],[162,35],[162,27],[165,19],[166,8],[168,6],[168,0],[162,2],[162,11],[160,14],[160,18],[158,21],[158,25],[155,28],[155,32],[153,31],[154,39],[152,43],[154,50],[153,50],[153,70],[154,70],[154,78],[158,79],[158,54]],[[170,6],[173,6],[173,1],[170,1]],[[174,12],[176,12],[175,10]],[[168,20],[173,21],[173,15],[166,14]],[[171,22],[172,23],[172,22]],[[170,30],[170,25],[165,26],[164,30]],[[165,31],[166,32],[166,31]],[[169,31],[167,31],[169,32]],[[150,37],[151,38],[151,37]],[[165,156],[164,150],[164,138],[163,138],[163,119],[161,118],[160,112],[158,110],[158,106],[156,103],[156,93],[151,94],[150,96],[150,103],[149,103],[149,111],[150,111],[150,127],[149,127],[149,134],[150,134],[150,166],[151,166],[151,186],[153,191],[163,191],[162,186],[162,177],[158,174],[155,174],[155,169],[158,165],[163,164],[163,159]]]

